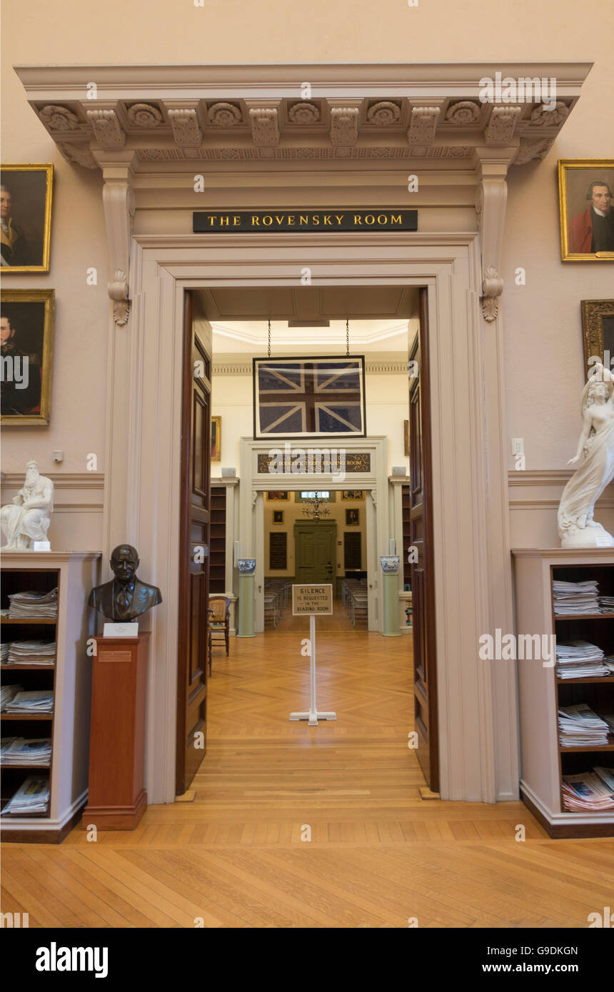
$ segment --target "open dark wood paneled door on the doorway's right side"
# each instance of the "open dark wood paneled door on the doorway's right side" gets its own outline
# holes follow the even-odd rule
[[[420,291],[420,327],[410,343],[410,535],[414,624],[414,711],[418,760],[433,793],[439,791],[437,681],[432,574],[432,473],[430,461],[429,323],[426,288]]]

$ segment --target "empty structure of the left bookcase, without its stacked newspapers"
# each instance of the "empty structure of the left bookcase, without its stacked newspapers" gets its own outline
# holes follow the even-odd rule
[[[99,581],[100,555],[91,552],[4,552],[0,605],[9,606],[13,592],[48,592],[58,587],[58,617],[0,619],[2,641],[56,641],[53,666],[2,665],[2,683],[26,691],[51,689],[51,713],[0,713],[3,737],[49,737],[49,766],[2,767],[1,810],[29,775],[49,776],[46,812],[29,815],[0,811],[5,841],[60,843],[76,822],[87,797],[91,661],[87,638],[94,631],[87,607],[91,587]]]

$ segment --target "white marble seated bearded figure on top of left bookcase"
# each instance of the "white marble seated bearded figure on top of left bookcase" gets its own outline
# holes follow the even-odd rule
[[[38,462],[29,461],[23,488],[0,510],[0,525],[7,539],[2,551],[27,551],[35,541],[47,541],[53,509],[54,483],[39,474]]]

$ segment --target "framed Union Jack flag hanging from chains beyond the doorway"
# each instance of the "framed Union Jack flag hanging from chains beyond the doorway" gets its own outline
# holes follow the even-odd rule
[[[254,358],[254,438],[364,437],[365,360]]]

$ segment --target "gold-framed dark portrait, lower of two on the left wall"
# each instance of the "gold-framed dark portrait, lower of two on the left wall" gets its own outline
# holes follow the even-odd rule
[[[2,424],[33,427],[50,422],[54,304],[54,290],[0,294]]]

